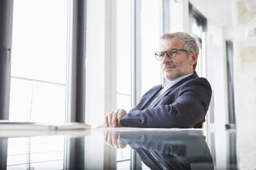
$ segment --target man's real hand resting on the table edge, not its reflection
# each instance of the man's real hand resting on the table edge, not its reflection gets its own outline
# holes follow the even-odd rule
[[[120,120],[127,112],[123,109],[116,109],[105,115],[105,122],[98,127],[121,127]]]

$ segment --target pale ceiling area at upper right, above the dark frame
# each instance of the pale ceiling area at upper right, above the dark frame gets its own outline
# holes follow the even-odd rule
[[[189,0],[208,19],[220,27],[232,27],[232,0]]]

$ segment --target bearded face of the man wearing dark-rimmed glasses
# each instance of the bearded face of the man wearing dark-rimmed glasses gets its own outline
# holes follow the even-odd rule
[[[162,40],[160,44],[160,51],[167,51],[168,49],[178,48],[182,49],[182,44],[178,38],[171,38]],[[198,58],[196,58],[197,60]],[[165,53],[164,58],[160,61],[161,69],[164,73],[164,77],[167,80],[174,80],[183,75],[193,73],[193,53],[186,55],[186,51],[177,51],[175,58],[169,58]],[[195,60],[195,61],[196,61]]]

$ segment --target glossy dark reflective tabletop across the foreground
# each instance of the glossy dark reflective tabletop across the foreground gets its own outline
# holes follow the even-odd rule
[[[256,169],[255,134],[124,127],[0,131],[0,169]]]

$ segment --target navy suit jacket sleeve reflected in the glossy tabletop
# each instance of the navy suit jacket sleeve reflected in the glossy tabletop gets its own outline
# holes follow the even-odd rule
[[[202,131],[121,132],[120,139],[132,149],[147,149],[158,154],[172,154],[184,164],[213,162]]]

